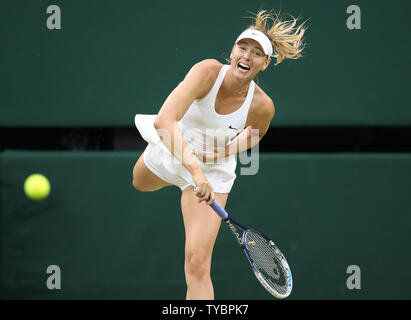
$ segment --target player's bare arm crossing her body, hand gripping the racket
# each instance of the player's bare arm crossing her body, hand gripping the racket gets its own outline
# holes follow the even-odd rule
[[[167,97],[154,121],[154,126],[162,137],[164,145],[193,176],[200,202],[210,198],[207,204],[214,201],[212,186],[188,148],[177,121],[184,116],[195,99],[207,95],[214,85],[220,68],[221,64],[211,59],[195,64],[184,80]]]

